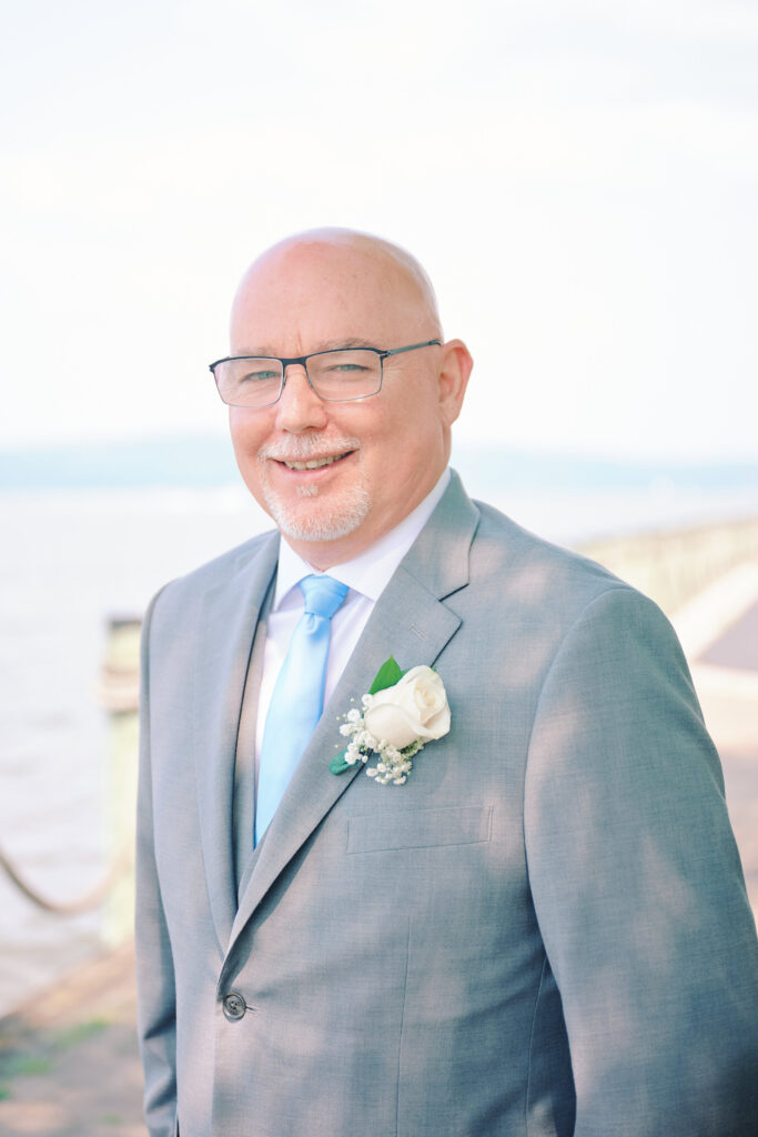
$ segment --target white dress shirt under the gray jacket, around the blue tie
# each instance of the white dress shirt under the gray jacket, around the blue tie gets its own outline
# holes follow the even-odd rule
[[[334,580],[347,584],[349,591],[332,617],[324,706],[326,706],[348,659],[352,655],[374,605],[389,584],[394,570],[431,517],[435,505],[448,488],[449,481],[450,470],[445,470],[432,492],[416,506],[413,513],[403,517],[399,525],[381,537],[360,556],[352,561],[345,561],[344,564],[333,565],[326,573]],[[276,589],[266,625],[264,667],[258,695],[256,783],[268,705],[292,639],[292,632],[303,611],[302,592],[298,588],[298,583],[303,576],[313,575],[324,574],[298,556],[288,543],[286,538],[283,537],[280,546]],[[383,663],[384,659],[376,661],[377,671]]]

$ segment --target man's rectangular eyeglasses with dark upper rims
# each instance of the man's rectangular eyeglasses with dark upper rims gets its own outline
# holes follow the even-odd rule
[[[222,400],[231,407],[269,407],[282,397],[286,368],[298,364],[306,368],[311,388],[327,402],[351,402],[367,399],[382,389],[383,364],[388,356],[441,346],[441,340],[410,343],[405,348],[340,348],[338,351],[314,351],[294,359],[259,356],[227,356],[210,364]]]

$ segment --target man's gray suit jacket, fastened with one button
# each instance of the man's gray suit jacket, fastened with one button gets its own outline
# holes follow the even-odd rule
[[[453,478],[238,906],[235,741],[277,550],[268,534],[175,581],[144,625],[151,1132],[755,1134],[755,924],[718,758],[660,612]],[[436,666],[450,733],[402,787],[363,767],[335,777],[338,716],[391,653]]]

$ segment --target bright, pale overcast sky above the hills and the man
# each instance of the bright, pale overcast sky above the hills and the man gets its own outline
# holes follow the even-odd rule
[[[0,447],[223,432],[245,265],[409,248],[464,441],[756,460],[755,0],[27,0],[0,45]],[[390,346],[390,345],[388,345]]]

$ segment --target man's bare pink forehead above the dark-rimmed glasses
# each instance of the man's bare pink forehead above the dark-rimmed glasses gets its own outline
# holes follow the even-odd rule
[[[301,241],[270,250],[243,277],[232,346],[293,355],[341,339],[392,347],[430,329],[427,308],[420,282],[382,248]]]

